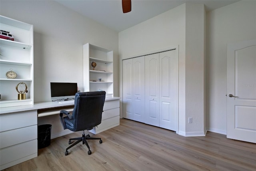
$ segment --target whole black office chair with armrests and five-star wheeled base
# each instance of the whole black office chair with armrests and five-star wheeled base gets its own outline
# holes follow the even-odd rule
[[[92,154],[86,139],[99,139],[100,143],[102,143],[101,138],[90,137],[89,134],[84,135],[84,130],[90,130],[101,123],[105,96],[105,91],[76,93],[72,115],[68,111],[60,111],[60,121],[64,129],[74,132],[83,131],[82,137],[69,139],[68,144],[72,143],[71,140],[77,141],[66,148],[65,155],[68,155],[68,149],[81,141],[88,147],[88,155]],[[63,117],[63,114],[67,116]]]

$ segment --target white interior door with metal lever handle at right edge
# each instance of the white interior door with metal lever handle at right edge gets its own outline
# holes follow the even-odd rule
[[[228,44],[227,138],[256,143],[256,40]]]

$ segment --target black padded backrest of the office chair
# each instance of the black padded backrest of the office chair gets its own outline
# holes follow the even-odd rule
[[[101,123],[105,96],[105,91],[76,93],[72,113],[74,131],[89,130]]]

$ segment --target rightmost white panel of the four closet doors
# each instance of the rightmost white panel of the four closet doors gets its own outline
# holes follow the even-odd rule
[[[159,106],[160,127],[176,131],[176,104],[178,101],[178,76],[176,50],[160,53]]]

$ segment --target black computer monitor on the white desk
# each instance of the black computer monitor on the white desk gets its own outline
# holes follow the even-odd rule
[[[77,93],[77,83],[54,83],[51,82],[51,100],[71,99]]]

